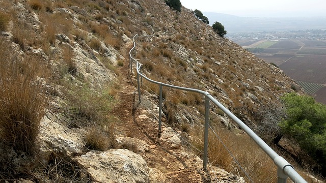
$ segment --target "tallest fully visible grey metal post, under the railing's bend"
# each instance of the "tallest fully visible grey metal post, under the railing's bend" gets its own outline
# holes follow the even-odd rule
[[[204,170],[207,170],[208,154],[208,122],[209,122],[209,99],[205,96],[205,129],[204,129]]]

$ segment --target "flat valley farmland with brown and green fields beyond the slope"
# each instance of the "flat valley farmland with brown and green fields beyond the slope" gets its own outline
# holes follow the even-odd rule
[[[325,40],[249,40],[244,48],[274,63],[295,80],[317,102],[326,104],[326,41]],[[257,44],[259,43],[259,44]],[[259,48],[259,49],[257,49]]]

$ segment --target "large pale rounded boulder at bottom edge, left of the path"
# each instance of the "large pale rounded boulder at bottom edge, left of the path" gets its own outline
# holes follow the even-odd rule
[[[76,158],[94,182],[150,182],[146,161],[127,149],[90,151]]]

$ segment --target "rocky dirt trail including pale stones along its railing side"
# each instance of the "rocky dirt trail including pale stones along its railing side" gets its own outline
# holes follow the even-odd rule
[[[132,47],[130,43],[124,48],[126,53],[129,47]],[[163,124],[162,133],[158,134],[158,121],[155,119],[158,107],[149,104],[153,107],[148,109],[148,106],[138,101],[135,71],[130,73],[128,64],[125,63],[120,73],[123,75],[123,89],[119,94],[119,105],[112,111],[121,119],[121,122],[116,124],[119,129],[117,136],[120,136],[119,140],[131,140],[137,144],[138,153],[149,167],[151,182],[242,182],[241,177],[217,167],[204,171],[203,161],[182,146],[178,135],[181,132],[175,132]],[[146,95],[146,92],[144,93]]]

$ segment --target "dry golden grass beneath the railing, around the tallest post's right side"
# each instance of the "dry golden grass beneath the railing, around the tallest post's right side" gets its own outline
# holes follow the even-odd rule
[[[277,166],[274,164],[262,149],[246,135],[236,135],[232,131],[221,128],[214,128],[222,142],[230,149],[233,156],[247,172],[253,182],[276,182]],[[203,129],[196,128],[192,131],[195,136],[193,143],[203,148]],[[249,181],[246,174],[238,167],[233,158],[229,155],[221,141],[212,131],[208,137],[209,162],[219,166],[226,171],[240,175]]]

